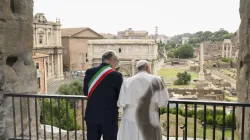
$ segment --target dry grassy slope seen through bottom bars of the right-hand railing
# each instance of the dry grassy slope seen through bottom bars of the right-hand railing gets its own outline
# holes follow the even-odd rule
[[[176,116],[173,114],[169,114],[170,117],[170,137],[175,137],[175,123],[176,123]],[[167,120],[167,114],[161,115],[161,122],[165,122]],[[188,137],[193,137],[194,136],[194,118],[188,118],[188,124],[187,124],[187,135]],[[185,123],[185,118],[182,116],[178,116],[178,136],[182,137],[183,136],[183,130],[180,129],[180,126]],[[197,120],[197,126],[196,126],[196,137],[197,138],[203,138],[203,126],[198,123]],[[165,127],[166,128],[166,127]],[[225,138],[231,138],[231,129],[225,131]],[[166,135],[166,130],[163,131],[163,134]],[[238,139],[236,130],[235,130],[235,139]],[[210,126],[207,126],[206,129],[206,138],[207,139],[212,139],[213,137],[213,128]],[[215,130],[215,139],[220,140],[222,138],[222,131],[218,128]]]

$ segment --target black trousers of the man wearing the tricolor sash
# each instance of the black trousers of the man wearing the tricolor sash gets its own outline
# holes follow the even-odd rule
[[[112,124],[94,124],[87,122],[87,140],[117,140],[118,122]]]

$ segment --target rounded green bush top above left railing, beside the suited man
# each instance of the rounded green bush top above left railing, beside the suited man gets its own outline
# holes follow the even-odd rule
[[[61,95],[82,95],[83,83],[81,81],[74,81],[70,84],[63,84],[59,87],[58,93]]]

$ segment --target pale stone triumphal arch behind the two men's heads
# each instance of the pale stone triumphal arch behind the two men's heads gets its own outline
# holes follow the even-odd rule
[[[124,76],[136,74],[136,62],[146,59],[151,65],[152,72],[155,72],[155,64],[158,56],[158,46],[151,39],[115,39],[115,40],[90,40],[88,41],[89,67],[101,63],[101,57],[106,50],[113,50],[119,57],[120,71]]]

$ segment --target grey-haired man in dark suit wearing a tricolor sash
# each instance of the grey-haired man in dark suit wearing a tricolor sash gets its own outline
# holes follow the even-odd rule
[[[117,100],[123,82],[114,51],[106,51],[102,63],[86,71],[84,95],[88,96],[85,113],[87,139],[116,140],[118,132]]]

